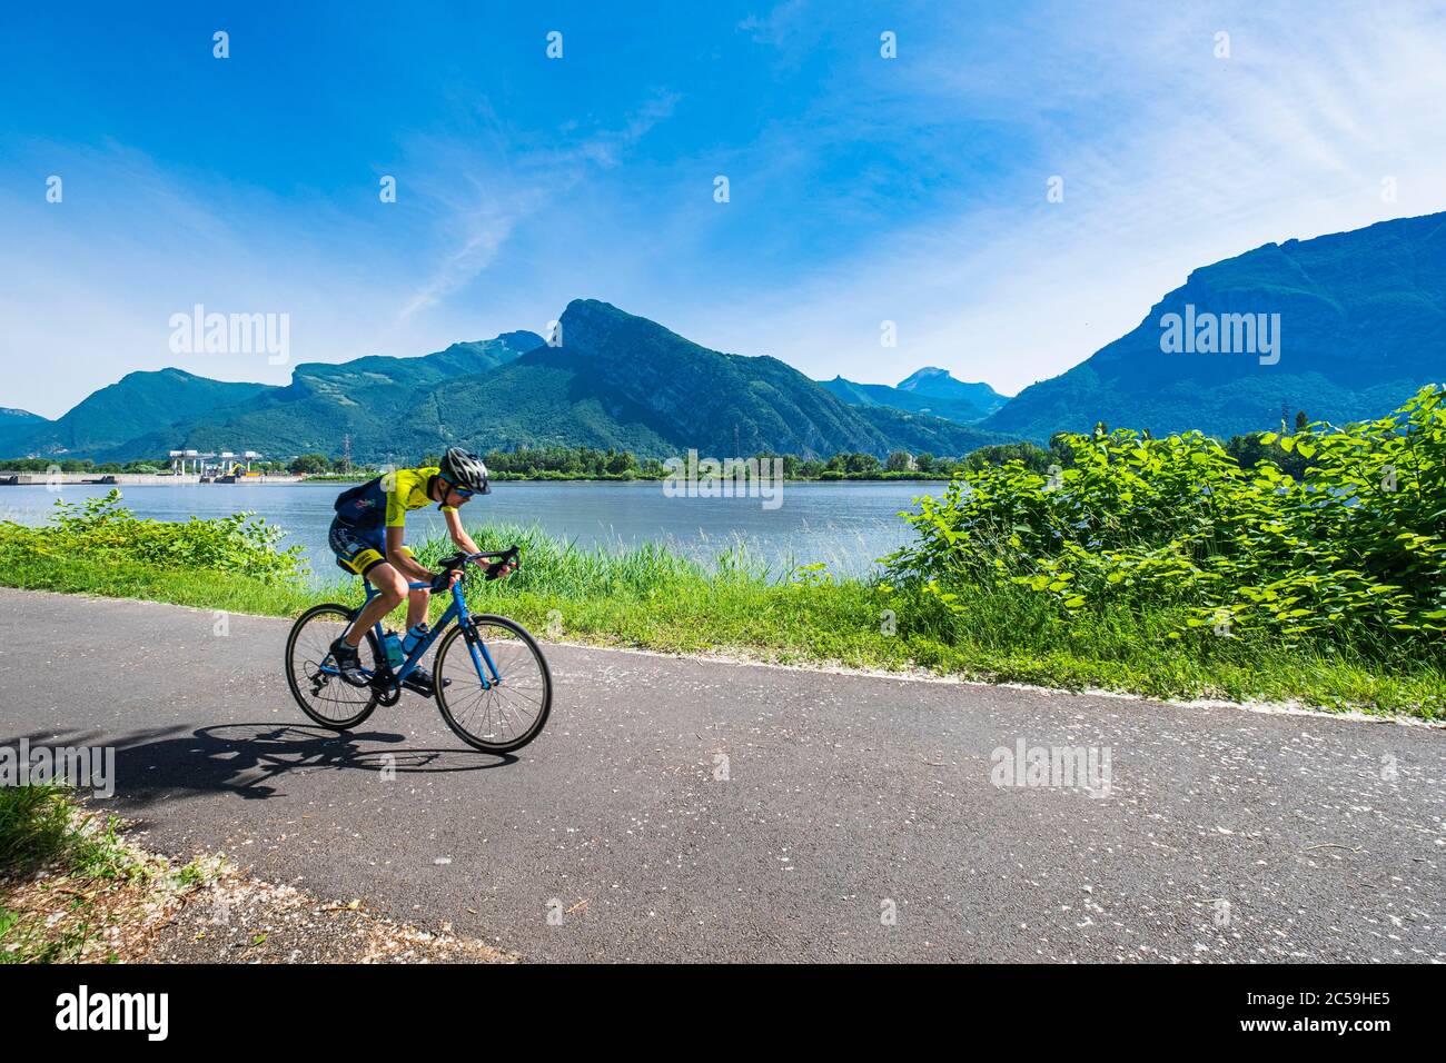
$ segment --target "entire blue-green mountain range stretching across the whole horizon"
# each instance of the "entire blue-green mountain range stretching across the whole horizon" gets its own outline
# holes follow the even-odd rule
[[[1014,398],[933,366],[892,388],[816,382],[593,299],[568,304],[560,324],[558,346],[503,333],[421,357],[302,363],[285,386],[129,373],[55,421],[0,408],[0,456],[286,458],[337,454],[346,437],[359,461],[448,445],[957,456],[1099,421],[1225,437],[1274,428],[1283,411],[1379,417],[1446,376],[1446,214],[1268,243],[1196,269],[1132,331]]]

